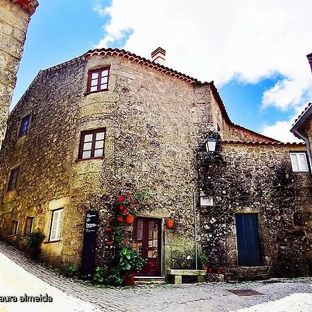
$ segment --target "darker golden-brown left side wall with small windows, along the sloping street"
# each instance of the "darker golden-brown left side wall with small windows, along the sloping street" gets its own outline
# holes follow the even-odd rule
[[[76,146],[77,101],[85,90],[85,60],[40,71],[11,112],[0,154],[1,236],[24,245],[26,216],[34,216],[33,231],[40,230],[48,240],[52,210],[64,207],[62,241],[42,245],[42,256],[50,263],[74,261],[76,250],[71,238],[77,229],[71,223],[71,166]],[[61,79],[60,79],[61,78]],[[27,135],[17,137],[21,119],[31,114]],[[10,169],[20,167],[17,188],[6,192]],[[43,210],[38,213],[38,209]],[[66,212],[67,212],[66,211]],[[18,219],[17,236],[7,237],[10,220]]]

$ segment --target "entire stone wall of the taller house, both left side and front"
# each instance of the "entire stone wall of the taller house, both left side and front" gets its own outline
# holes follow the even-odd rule
[[[88,70],[107,65],[109,91],[85,94]],[[192,263],[196,146],[209,125],[209,101],[207,87],[196,89],[118,57],[87,63],[78,58],[42,71],[10,115],[3,141],[1,235],[23,244],[24,220],[35,216],[35,229],[48,236],[51,211],[64,207],[62,239],[44,243],[42,257],[58,266],[79,266],[85,211],[95,209],[100,213],[96,261],[103,263],[110,254],[104,229],[111,196],[148,190],[139,216],[164,221],[174,214],[176,221],[173,229],[162,228],[163,268],[188,255]],[[17,139],[21,118],[29,113],[29,132]],[[77,161],[80,131],[102,127],[105,158]],[[17,165],[19,185],[6,193],[10,168]],[[38,207],[43,214],[37,214]],[[7,238],[14,218],[21,225],[18,235]],[[132,227],[126,230],[130,236]]]

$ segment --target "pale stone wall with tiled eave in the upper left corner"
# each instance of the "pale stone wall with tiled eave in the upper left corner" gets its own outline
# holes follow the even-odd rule
[[[0,145],[6,132],[28,23],[37,6],[36,0],[0,0]]]

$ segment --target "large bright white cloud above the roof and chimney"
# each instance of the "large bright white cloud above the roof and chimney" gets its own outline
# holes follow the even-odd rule
[[[124,49],[146,58],[162,46],[168,67],[219,87],[279,75],[262,109],[293,110],[312,96],[311,0],[112,0],[96,10],[110,17],[98,46],[125,39]]]

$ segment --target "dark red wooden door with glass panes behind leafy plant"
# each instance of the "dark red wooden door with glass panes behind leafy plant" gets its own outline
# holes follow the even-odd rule
[[[136,218],[133,225],[132,249],[147,259],[139,276],[159,276],[161,259],[161,223],[159,219]]]

